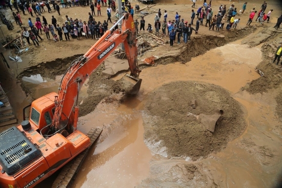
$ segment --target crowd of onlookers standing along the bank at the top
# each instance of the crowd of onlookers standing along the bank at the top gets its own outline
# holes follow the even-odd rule
[[[108,4],[107,4],[108,3]],[[31,17],[35,16],[35,21],[32,21],[32,18],[29,18],[28,26],[29,28],[25,27],[23,28],[23,36],[27,39],[27,42],[30,44],[30,40],[33,42],[34,45],[39,45],[38,39],[43,40],[42,37],[39,34],[42,34],[44,32],[46,34],[47,39],[50,38],[50,34],[52,36],[52,39],[56,41],[63,41],[63,35],[65,36],[65,40],[68,41],[71,38],[79,40],[82,37],[85,37],[86,39],[99,39],[105,31],[109,29],[108,22],[112,23],[111,17],[112,13],[116,11],[115,6],[115,0],[61,0],[59,2],[55,1],[42,1],[42,2],[26,2],[26,0],[11,0],[10,5],[8,7],[11,8],[11,4],[14,6],[14,8],[17,10],[16,13],[13,12],[15,23],[19,26],[22,26],[23,22],[21,20],[21,15],[19,14],[18,8],[20,8],[25,14],[25,11],[27,11]],[[30,6],[31,4],[31,6]],[[44,7],[46,6],[48,12],[53,12],[51,10],[50,4],[53,5],[53,9],[59,12],[60,5],[61,8],[68,8],[74,7],[74,6],[87,6],[90,7],[91,12],[88,13],[88,21],[82,21],[80,19],[73,19],[72,17],[69,17],[66,15],[65,23],[62,25],[59,25],[57,23],[57,20],[55,16],[52,15],[51,22],[47,22],[45,16],[41,16],[43,11],[45,11]],[[192,8],[195,8],[196,0],[193,0]],[[104,22],[96,21],[93,16],[101,15],[101,5],[102,7],[107,8],[107,20],[104,20]],[[134,16],[134,10],[131,6],[130,2],[128,0],[122,0],[122,10],[123,12],[129,12],[132,16]],[[175,20],[167,20],[168,19],[168,12],[165,10],[162,16],[162,12],[159,9],[158,13],[154,17],[154,24],[151,25],[148,23],[147,31],[153,32],[153,27],[155,29],[155,35],[160,35],[160,31],[162,31],[163,35],[168,34],[170,38],[170,45],[173,46],[174,41],[177,37],[177,43],[180,44],[182,42],[182,37],[184,43],[187,43],[187,41],[190,40],[192,31],[194,30],[195,33],[198,33],[200,26],[206,26],[209,27],[209,30],[216,30],[220,31],[223,29],[226,29],[227,31],[231,29],[236,29],[237,25],[240,22],[240,18],[238,17],[238,14],[244,14],[247,8],[247,2],[244,3],[243,7],[240,11],[237,11],[237,8],[234,7],[234,5],[231,5],[229,8],[226,7],[226,5],[221,4],[218,9],[216,8],[216,11],[211,8],[211,1],[207,3],[206,0],[204,0],[204,3],[202,6],[200,6],[195,11],[192,10],[191,12],[191,22],[188,23],[188,21],[184,21],[184,18],[182,18],[181,15],[179,15],[177,12],[175,14]],[[250,25],[257,14],[256,21],[263,24],[265,21],[269,22],[272,9],[269,10],[268,13],[266,13],[267,3],[264,2],[263,5],[261,5],[258,12],[255,10],[255,8],[250,10],[250,16],[247,25]],[[135,6],[135,9],[139,9],[138,6]],[[104,11],[104,10],[103,10]],[[215,13],[216,12],[216,13]],[[163,19],[163,21],[160,21],[160,19]],[[279,21],[280,19],[280,21]],[[281,23],[282,17],[278,18],[277,24],[275,25],[275,29],[279,28],[279,25]],[[118,16],[115,16],[114,20],[118,20]],[[195,22],[195,28],[193,27]],[[204,23],[205,22],[205,23]],[[134,22],[136,33],[138,34],[138,30],[145,31],[145,20],[144,17],[142,17],[139,22],[138,20],[135,20]],[[116,26],[117,28],[117,26]],[[115,29],[116,29],[115,28]]]

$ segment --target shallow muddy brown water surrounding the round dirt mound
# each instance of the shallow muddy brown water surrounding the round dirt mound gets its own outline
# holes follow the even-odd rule
[[[229,90],[231,96],[244,106],[248,124],[245,133],[231,141],[224,151],[210,154],[208,158],[198,161],[203,166],[203,169],[198,168],[198,173],[203,175],[206,171],[210,172],[206,173],[206,176],[222,186],[270,186],[274,180],[270,175],[275,174],[278,168],[268,166],[267,173],[266,170],[260,170],[259,173],[257,171],[266,168],[264,163],[270,160],[268,156],[273,156],[274,151],[277,152],[280,147],[277,143],[271,145],[273,140],[279,139],[277,128],[270,126],[278,124],[273,114],[273,105],[270,105],[275,102],[262,95],[252,97],[246,91],[240,91],[246,83],[260,77],[254,70],[260,61],[260,46],[249,48],[236,41],[192,58],[192,61],[186,64],[176,62],[144,69],[140,74],[143,79],[142,88],[135,98],[126,99],[120,104],[118,100],[121,96],[114,95],[112,103],[102,102],[93,112],[79,118],[78,128],[85,133],[92,126],[103,126],[104,130],[72,187],[154,187],[155,183],[164,187],[174,185],[166,180],[159,182],[161,177],[171,178],[170,172],[162,166],[167,166],[169,170],[176,164],[191,162],[178,158],[167,160],[166,148],[160,148],[159,142],[144,142],[142,110],[147,94],[153,89],[172,81],[191,80],[216,84]],[[124,73],[116,76],[114,80],[123,75]],[[57,87],[57,83],[54,80],[42,82],[34,85],[34,90],[41,92],[44,90],[42,88],[52,89]],[[34,96],[37,96],[35,94]],[[266,129],[257,131],[256,123],[262,119],[268,119],[264,121]],[[258,139],[265,136],[271,138],[271,142],[266,144]],[[250,141],[252,138],[258,139],[257,142]],[[159,154],[162,154],[162,157],[159,157]],[[276,158],[274,162],[278,162],[277,160]],[[201,181],[206,183],[202,184]],[[211,183],[205,178],[201,181],[195,186],[205,187]],[[180,185],[185,187],[188,184]]]

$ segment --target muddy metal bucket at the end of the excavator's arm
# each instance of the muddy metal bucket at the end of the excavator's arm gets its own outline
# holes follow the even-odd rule
[[[138,77],[135,78],[133,76],[130,76],[129,73],[126,73],[125,76],[121,79],[121,81],[124,84],[126,92],[135,95],[140,89],[142,79],[139,79]]]

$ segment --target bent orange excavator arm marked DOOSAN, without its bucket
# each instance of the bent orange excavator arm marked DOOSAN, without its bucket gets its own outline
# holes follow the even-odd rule
[[[55,99],[55,112],[51,128],[55,131],[64,129],[69,122],[69,117],[75,105],[74,130],[78,119],[78,92],[90,74],[113,52],[121,43],[124,44],[130,69],[130,78],[137,81],[135,87],[138,91],[142,79],[139,79],[137,64],[137,47],[135,26],[130,14],[125,13],[117,22],[122,21],[122,29],[111,32],[116,25],[105,34],[82,56],[74,60],[62,78],[58,96]],[[116,24],[117,24],[116,23]]]

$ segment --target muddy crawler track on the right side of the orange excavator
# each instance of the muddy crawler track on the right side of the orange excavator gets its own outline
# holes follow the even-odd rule
[[[80,166],[86,158],[90,147],[102,133],[102,130],[102,128],[98,127],[91,128],[91,130],[87,134],[87,136],[90,138],[90,146],[62,167],[61,172],[53,182],[52,188],[67,188],[70,186],[71,181],[75,179]]]

